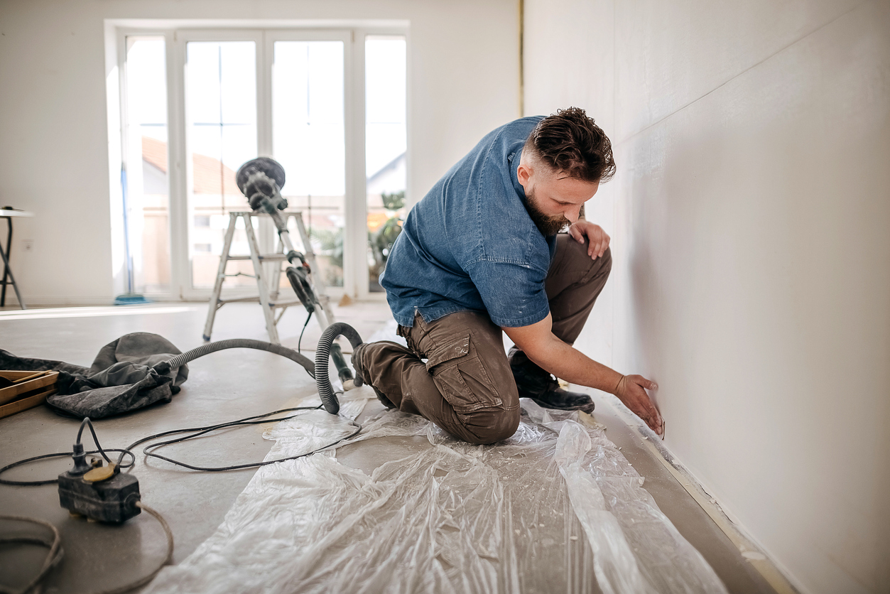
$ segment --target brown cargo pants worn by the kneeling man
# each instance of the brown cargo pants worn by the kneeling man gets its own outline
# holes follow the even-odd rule
[[[557,338],[574,344],[610,271],[610,250],[591,260],[587,242],[557,237],[545,282]],[[502,330],[486,313],[449,313],[429,322],[417,313],[414,326],[399,326],[398,333],[409,348],[380,341],[362,351],[366,380],[397,409],[469,443],[495,443],[515,433],[519,395]]]

